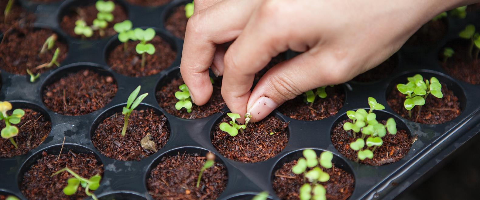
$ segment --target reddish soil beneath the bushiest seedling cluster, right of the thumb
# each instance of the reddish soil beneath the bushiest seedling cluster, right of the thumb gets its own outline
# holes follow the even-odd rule
[[[336,127],[332,130],[332,143],[336,150],[343,154],[350,160],[357,161],[357,151],[350,148],[350,143],[355,142],[357,138],[361,138],[361,133],[357,133],[357,137],[353,138],[347,131],[343,129],[345,122],[352,122],[352,120],[344,120],[341,123],[336,124]],[[385,124],[386,121],[379,121]],[[375,149],[373,152],[373,159],[359,160],[361,164],[381,166],[402,159],[408,154],[410,147],[412,146],[412,139],[405,130],[398,130],[395,135],[387,133],[382,137],[384,144]],[[367,145],[365,145],[366,149]]]

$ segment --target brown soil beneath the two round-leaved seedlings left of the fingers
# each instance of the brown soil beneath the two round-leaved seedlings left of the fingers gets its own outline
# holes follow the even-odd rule
[[[160,36],[155,36],[148,43],[155,46],[155,54],[146,54],[145,67],[142,70],[142,55],[135,51],[135,46],[139,41],[129,41],[127,51],[123,51],[123,44],[116,46],[108,54],[108,65],[116,72],[130,77],[146,77],[160,73],[160,71],[169,67],[177,52],[175,52],[170,44],[165,42]]]

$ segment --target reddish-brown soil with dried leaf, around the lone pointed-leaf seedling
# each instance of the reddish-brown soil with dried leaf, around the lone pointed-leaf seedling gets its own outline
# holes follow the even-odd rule
[[[155,141],[156,150],[167,144],[170,131],[165,115],[158,116],[152,109],[132,111],[127,132],[121,136],[124,115],[119,112],[101,122],[92,135],[93,145],[103,155],[116,160],[141,160],[156,151],[142,147],[140,141],[147,134]]]

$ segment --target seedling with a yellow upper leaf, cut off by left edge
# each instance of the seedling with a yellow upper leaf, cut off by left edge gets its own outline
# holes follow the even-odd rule
[[[17,143],[13,140],[13,137],[18,135],[18,128],[12,124],[20,123],[20,120],[25,115],[25,111],[22,109],[15,109],[12,115],[8,116],[7,111],[12,110],[12,104],[8,101],[0,102],[0,119],[5,122],[5,128],[1,130],[1,137],[10,139],[10,142],[18,148]]]

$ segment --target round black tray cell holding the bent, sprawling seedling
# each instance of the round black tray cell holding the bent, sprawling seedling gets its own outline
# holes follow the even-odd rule
[[[51,176],[65,167],[83,178],[90,178],[96,174],[103,176],[104,171],[98,155],[92,150],[77,144],[64,144],[62,149],[62,144],[56,144],[37,152],[25,161],[18,174],[18,186],[26,199],[86,198],[87,195],[81,186],[72,196],[63,193],[67,180],[73,177],[70,173],[64,171]],[[99,189],[101,187],[102,180]]]

